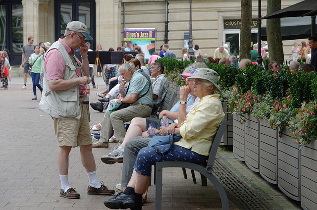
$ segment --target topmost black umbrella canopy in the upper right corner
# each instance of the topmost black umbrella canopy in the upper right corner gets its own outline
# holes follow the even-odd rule
[[[284,9],[272,12],[265,15],[259,19],[271,19],[271,18],[281,18],[281,17],[297,17],[302,16],[308,12],[317,10],[316,0],[304,0],[294,5],[288,6]],[[312,15],[312,14],[311,14]]]

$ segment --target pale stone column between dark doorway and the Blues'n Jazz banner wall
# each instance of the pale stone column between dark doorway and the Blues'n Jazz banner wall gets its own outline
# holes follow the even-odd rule
[[[121,46],[121,0],[96,0],[96,43],[106,51]]]

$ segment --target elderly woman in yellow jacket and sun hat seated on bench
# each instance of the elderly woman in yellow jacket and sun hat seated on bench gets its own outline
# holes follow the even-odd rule
[[[154,148],[140,150],[134,165],[132,177],[124,192],[104,202],[110,209],[141,210],[142,194],[151,175],[151,166],[159,161],[188,161],[203,163],[208,159],[212,140],[224,117],[217,86],[218,74],[209,68],[200,68],[194,80],[195,95],[201,100],[192,109],[182,124],[173,123],[168,127],[170,133],[181,135],[174,142],[170,152],[161,156]],[[182,88],[188,88],[183,86]],[[186,103],[184,104],[186,107]],[[181,108],[181,107],[180,107]],[[167,145],[157,146],[159,151],[168,150]]]

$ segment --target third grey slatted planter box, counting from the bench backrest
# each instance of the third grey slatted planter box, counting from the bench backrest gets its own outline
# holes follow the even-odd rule
[[[251,114],[246,114],[245,120],[245,161],[250,169],[259,172],[259,120]]]

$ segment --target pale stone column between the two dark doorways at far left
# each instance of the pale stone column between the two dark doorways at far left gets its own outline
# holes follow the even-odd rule
[[[22,0],[23,5],[23,43],[28,37],[34,37],[34,44],[39,43],[39,0]]]

